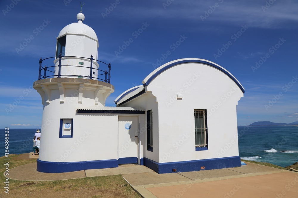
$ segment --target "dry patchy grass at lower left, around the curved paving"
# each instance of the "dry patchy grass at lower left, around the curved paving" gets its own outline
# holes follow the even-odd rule
[[[10,159],[9,168],[36,162],[36,159],[14,159],[18,155],[10,155],[8,158],[0,157],[1,179],[5,181],[4,159]],[[1,192],[4,194],[4,191]],[[39,194],[43,198],[50,197],[123,197],[140,198],[122,175],[87,177],[69,180],[55,181],[20,181],[9,179],[9,197],[32,197]],[[2,197],[2,196],[0,196]]]

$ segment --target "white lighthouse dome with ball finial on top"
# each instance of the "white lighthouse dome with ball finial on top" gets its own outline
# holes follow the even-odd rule
[[[61,37],[65,34],[84,35],[84,36],[90,37],[91,39],[98,41],[95,31],[91,27],[89,27],[83,23],[84,19],[85,19],[85,16],[82,13],[77,14],[78,22],[71,23],[71,24],[65,26],[60,31],[58,37]]]

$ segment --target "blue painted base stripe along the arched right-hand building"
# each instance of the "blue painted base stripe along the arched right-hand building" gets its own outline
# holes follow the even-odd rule
[[[168,163],[158,163],[144,158],[144,166],[160,174],[171,173],[173,169],[177,172],[189,172],[201,170],[201,167],[204,167],[204,170],[240,167],[241,161],[239,156]]]

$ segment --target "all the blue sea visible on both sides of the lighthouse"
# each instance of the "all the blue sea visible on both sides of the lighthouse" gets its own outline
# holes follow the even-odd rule
[[[36,129],[9,129],[9,153],[32,152]],[[0,142],[4,145],[4,129]],[[239,156],[242,159],[262,161],[281,167],[298,161],[297,126],[238,126]],[[4,156],[3,152],[0,156]],[[282,152],[283,151],[283,152]]]

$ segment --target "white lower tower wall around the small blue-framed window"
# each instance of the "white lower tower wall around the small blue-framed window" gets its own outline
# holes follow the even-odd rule
[[[39,159],[63,162],[117,159],[118,116],[76,115],[75,106],[79,105],[60,104],[55,99],[44,107]],[[72,138],[59,138],[60,118],[73,118]],[[44,124],[46,121],[49,125]]]

